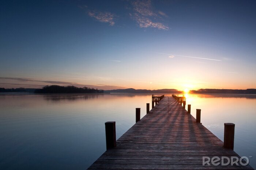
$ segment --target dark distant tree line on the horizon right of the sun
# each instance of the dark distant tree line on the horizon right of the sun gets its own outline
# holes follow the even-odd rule
[[[199,89],[199,90],[191,90],[190,93],[219,93],[219,94],[256,94],[255,88],[248,88],[246,90],[234,90],[234,89]]]

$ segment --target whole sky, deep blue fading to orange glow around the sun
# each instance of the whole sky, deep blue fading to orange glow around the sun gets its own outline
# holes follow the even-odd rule
[[[0,1],[0,87],[256,88],[256,1]]]

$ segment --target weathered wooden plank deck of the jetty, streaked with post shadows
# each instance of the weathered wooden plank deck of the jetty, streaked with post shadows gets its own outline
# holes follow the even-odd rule
[[[175,97],[175,96],[174,96]],[[253,169],[202,165],[203,156],[238,156],[191,116],[173,97],[164,97],[136,122],[89,170]],[[240,158],[240,156],[238,156]]]

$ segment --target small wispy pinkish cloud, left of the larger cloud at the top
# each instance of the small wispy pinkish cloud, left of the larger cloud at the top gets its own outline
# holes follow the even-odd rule
[[[111,26],[115,24],[114,14],[110,12],[89,11],[88,15],[97,19],[99,22],[106,22],[109,23]]]

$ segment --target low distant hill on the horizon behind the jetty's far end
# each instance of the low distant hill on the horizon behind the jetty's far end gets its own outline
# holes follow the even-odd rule
[[[117,90],[105,90],[104,92],[110,93],[180,93],[182,91],[178,91],[176,89],[161,89],[161,90],[146,90],[146,89],[134,89],[134,88],[126,88],[126,89],[117,89]]]

